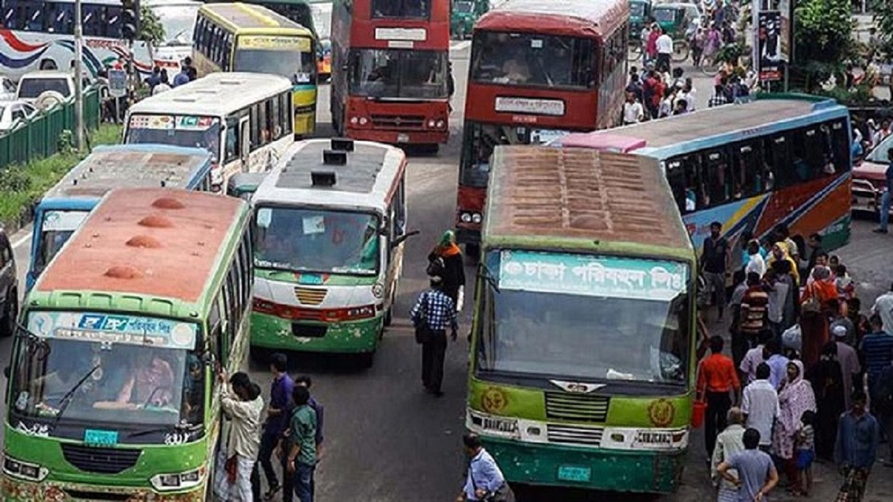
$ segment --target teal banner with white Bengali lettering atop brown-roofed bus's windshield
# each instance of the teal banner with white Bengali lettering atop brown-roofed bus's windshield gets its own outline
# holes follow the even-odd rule
[[[688,267],[677,262],[508,250],[500,260],[500,289],[672,300],[688,283]]]

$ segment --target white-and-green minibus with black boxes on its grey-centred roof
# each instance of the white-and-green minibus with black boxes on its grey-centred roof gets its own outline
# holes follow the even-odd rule
[[[405,172],[403,150],[370,141],[309,139],[286,150],[251,197],[252,347],[372,364],[392,318],[403,242],[418,233],[406,231]]]

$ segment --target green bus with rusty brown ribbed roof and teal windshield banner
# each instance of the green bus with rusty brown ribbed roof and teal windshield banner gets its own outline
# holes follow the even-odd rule
[[[497,146],[466,425],[508,481],[671,492],[689,443],[695,251],[657,161]]]

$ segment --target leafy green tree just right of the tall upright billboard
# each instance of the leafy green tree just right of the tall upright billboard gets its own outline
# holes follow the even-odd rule
[[[847,59],[855,26],[850,0],[801,0],[794,19],[797,64]]]

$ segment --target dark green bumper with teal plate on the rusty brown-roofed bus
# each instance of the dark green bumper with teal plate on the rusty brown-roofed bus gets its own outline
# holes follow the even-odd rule
[[[679,487],[685,451],[630,451],[522,443],[482,436],[510,482],[609,491],[670,493]]]

